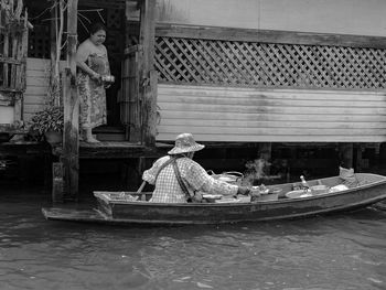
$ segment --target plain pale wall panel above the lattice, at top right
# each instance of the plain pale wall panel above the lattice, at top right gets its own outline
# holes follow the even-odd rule
[[[157,0],[157,21],[385,36],[384,0]]]

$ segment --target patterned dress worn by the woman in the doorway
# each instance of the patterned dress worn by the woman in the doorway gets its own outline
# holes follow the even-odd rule
[[[76,57],[85,62],[99,75],[110,74],[107,51],[104,45],[97,47],[89,40],[86,40],[79,45]],[[81,128],[95,128],[107,123],[106,90],[104,84],[92,79],[87,73],[78,69],[77,85],[81,105]]]

